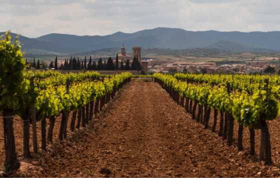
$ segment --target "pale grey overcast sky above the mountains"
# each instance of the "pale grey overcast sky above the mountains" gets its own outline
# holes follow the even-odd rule
[[[280,0],[0,0],[0,31],[106,35],[154,27],[280,30]]]

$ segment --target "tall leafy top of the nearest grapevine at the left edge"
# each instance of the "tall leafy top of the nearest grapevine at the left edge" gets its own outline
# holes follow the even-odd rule
[[[29,80],[23,78],[25,61],[17,39],[12,43],[9,32],[0,36],[0,110],[18,108],[20,96],[29,86]]]

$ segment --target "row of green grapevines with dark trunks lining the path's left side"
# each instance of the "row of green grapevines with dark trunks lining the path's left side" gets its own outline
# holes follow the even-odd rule
[[[72,111],[70,130],[74,131],[75,127],[79,129],[80,125],[85,127],[88,121],[92,120],[93,116],[102,109],[103,105],[114,97],[116,91],[130,81],[131,76],[132,74],[129,72],[122,72],[110,75],[108,78],[102,77],[103,82],[96,80],[100,77],[97,72],[54,74],[41,78],[31,77],[32,80],[24,78],[27,84],[25,90],[21,90],[18,99],[20,104],[15,105],[12,110],[0,109],[3,113],[4,125],[6,125],[4,127],[5,170],[9,171],[20,166],[16,158],[12,127],[14,114],[18,114],[23,119],[23,156],[29,158],[31,157],[29,149],[30,123],[32,123],[33,151],[38,151],[36,134],[36,122],[38,121],[41,124],[41,149],[46,150],[47,142],[52,142],[55,120],[60,114],[62,117],[58,139],[63,140],[67,137],[67,120],[70,111]],[[38,80],[34,82],[34,79]],[[44,87],[38,87],[42,85]],[[49,119],[49,127],[46,135],[47,118]]]

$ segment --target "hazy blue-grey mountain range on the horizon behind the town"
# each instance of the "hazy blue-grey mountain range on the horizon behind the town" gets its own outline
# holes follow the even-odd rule
[[[12,33],[12,36],[15,35]],[[158,27],[133,33],[118,31],[104,36],[50,33],[30,38],[20,35],[19,40],[27,54],[67,55],[104,48],[120,48],[122,44],[128,50],[131,50],[132,46],[141,46],[165,49],[215,48],[228,52],[280,51],[280,31],[187,31]]]

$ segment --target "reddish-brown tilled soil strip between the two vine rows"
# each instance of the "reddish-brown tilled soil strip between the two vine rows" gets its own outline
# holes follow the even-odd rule
[[[237,151],[236,146],[228,147],[216,133],[192,120],[157,83],[132,81],[86,129],[41,151],[38,162],[32,163],[41,167],[40,171],[28,173],[27,169],[19,175],[279,176],[280,148],[275,145],[279,145],[280,123],[272,123],[275,163],[264,166],[248,155],[247,132],[245,151]]]

